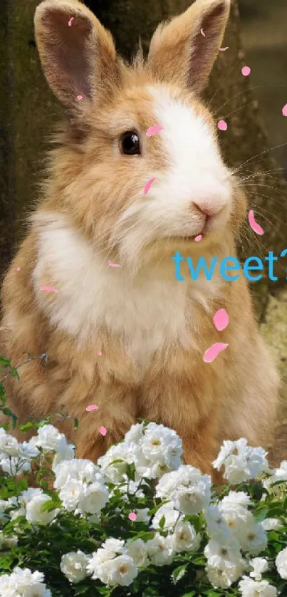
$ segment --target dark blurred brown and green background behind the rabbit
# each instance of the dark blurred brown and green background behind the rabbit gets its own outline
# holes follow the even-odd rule
[[[60,0],[59,0],[60,1]],[[33,36],[39,0],[0,0],[0,279],[26,231],[26,216],[38,197],[43,157],[61,106],[41,72]],[[192,0],[86,0],[112,31],[118,50],[132,56],[139,37],[147,52],[157,24]],[[264,229],[248,223],[241,257],[279,256],[287,248],[287,0],[231,0],[231,17],[205,99],[228,129],[219,134],[226,162],[239,177]],[[241,74],[243,66],[251,74]],[[261,330],[282,378],[281,425],[274,453],[287,456],[287,257],[278,281],[267,277],[252,288]],[[9,355],[7,355],[9,356]]]

